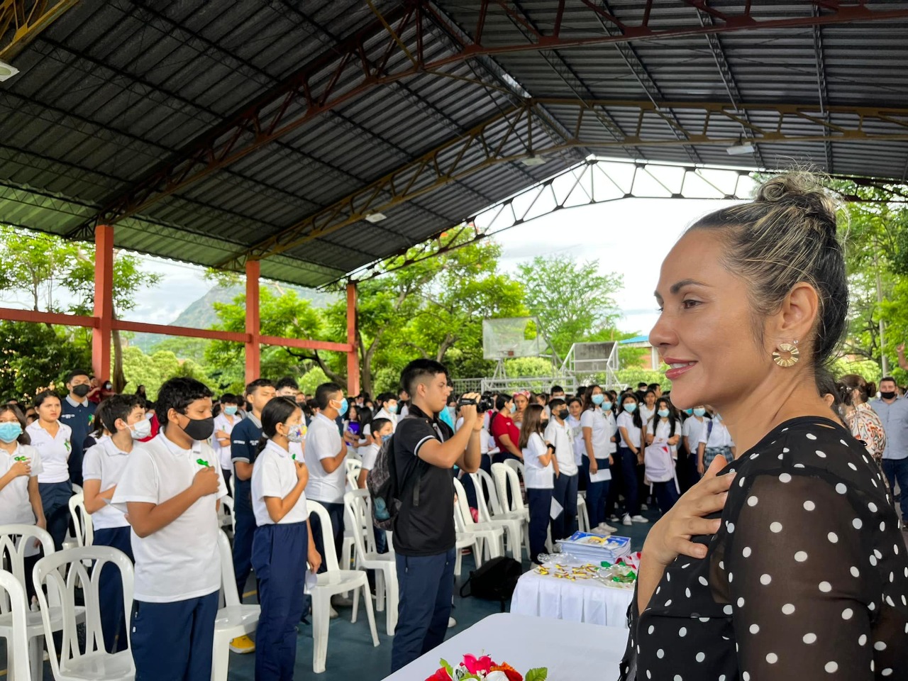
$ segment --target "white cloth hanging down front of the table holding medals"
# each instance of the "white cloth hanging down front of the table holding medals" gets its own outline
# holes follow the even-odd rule
[[[511,612],[627,627],[627,606],[633,598],[633,589],[607,587],[595,579],[558,579],[530,570],[518,580]]]

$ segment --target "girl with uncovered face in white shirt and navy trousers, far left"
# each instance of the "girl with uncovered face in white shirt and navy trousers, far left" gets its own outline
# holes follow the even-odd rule
[[[54,550],[59,551],[69,528],[69,498],[73,496],[68,463],[73,430],[60,422],[60,398],[50,390],[35,395],[35,411],[38,419],[25,431],[41,455],[43,470],[38,475],[38,491],[47,531],[54,539]]]

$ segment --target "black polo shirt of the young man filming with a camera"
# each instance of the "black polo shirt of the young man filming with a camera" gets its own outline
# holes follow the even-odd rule
[[[410,405],[407,418],[398,421],[394,431],[394,462],[401,503],[393,530],[394,550],[402,556],[435,556],[457,543],[451,469],[419,459],[419,448],[430,439],[444,442],[453,435],[454,431],[437,415],[429,417],[415,405]],[[414,507],[412,485],[417,467],[422,470],[422,478],[419,506]]]

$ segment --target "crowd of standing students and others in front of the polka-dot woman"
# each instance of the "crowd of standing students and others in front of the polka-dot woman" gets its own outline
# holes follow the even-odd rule
[[[469,473],[522,461],[537,561],[549,529],[553,540],[577,530],[578,490],[585,490],[591,528],[607,534],[619,523],[648,522],[645,504],[666,513],[714,459],[730,463],[735,455],[721,415],[706,405],[676,410],[658,384],[620,393],[589,385],[576,394],[554,385],[548,394],[522,390],[459,402],[447,370],[430,360],[411,362],[400,392],[375,400],[365,393],[348,398],[334,383],[307,399],[292,379],[253,380],[242,395],[213,399],[201,382],[174,378],[153,403],[143,394],[112,390],[95,402],[89,393],[99,395],[104,386],[93,388],[92,381],[74,370],[62,400],[46,390],[25,412],[16,400],[0,406],[0,524],[46,528],[60,550],[73,485],[82,487],[94,544],[118,548],[135,565],[132,613],[123,612],[114,568],[102,575],[100,606],[111,652],[125,648],[131,623],[139,679],[210,675],[221,587],[218,512],[225,495],[234,499],[238,592],[254,571],[262,605],[255,643],[241,637],[232,650],[256,651],[256,678],[289,679],[296,626],[309,610],[305,569],[325,569],[326,541],[341,553],[348,457],[360,461],[357,484],[365,488],[382,445],[393,438],[394,447],[386,449],[395,458],[401,502],[393,535],[400,581],[397,669],[437,646],[449,625],[451,475],[463,478],[469,505],[476,507]],[[871,405],[873,384],[850,375],[826,394],[877,461],[887,448],[880,415],[893,421],[890,428],[895,419],[899,428],[908,423],[902,414],[908,401],[897,400],[894,381],[883,379],[882,388],[881,400]],[[483,401],[491,408],[478,413],[474,403]],[[897,466],[886,469],[891,485],[901,475]],[[419,504],[405,493],[414,484]],[[310,516],[307,499],[328,511],[330,536]],[[552,508],[561,509],[555,518]],[[387,550],[384,533],[378,531],[377,540],[379,550]],[[38,558],[26,559],[28,574]],[[28,587],[34,596],[34,585]]]

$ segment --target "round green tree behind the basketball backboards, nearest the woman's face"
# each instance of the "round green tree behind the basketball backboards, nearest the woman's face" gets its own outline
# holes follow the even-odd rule
[[[619,317],[615,294],[623,281],[599,271],[597,260],[577,262],[568,255],[539,255],[518,265],[530,314],[564,357],[571,344],[610,330]]]

